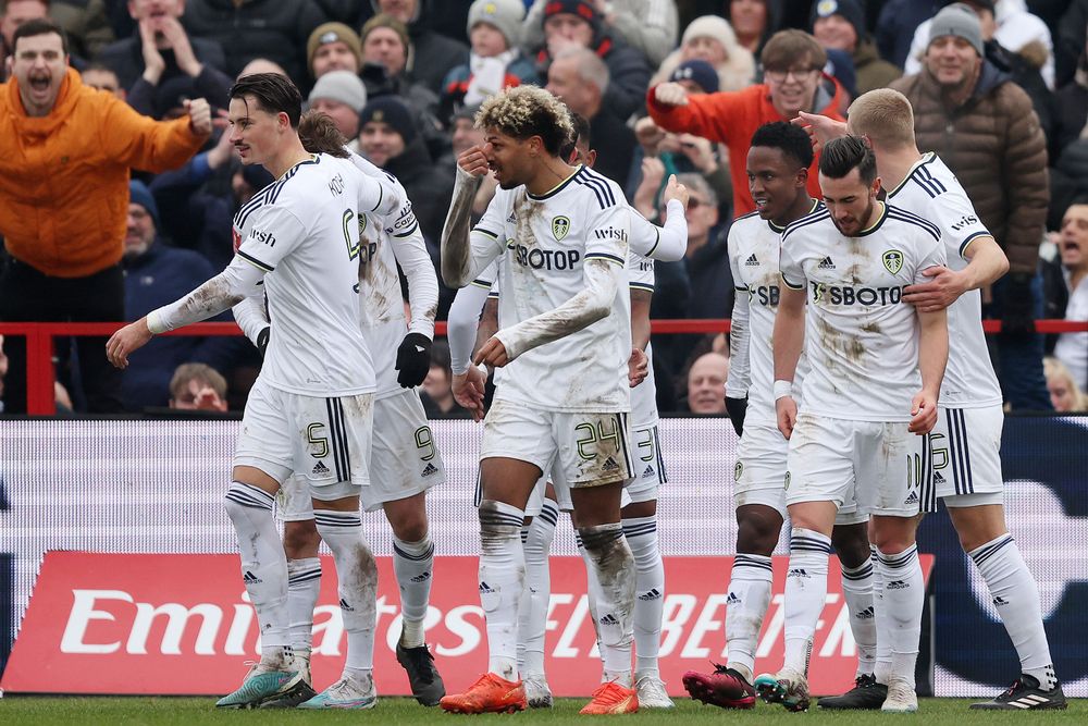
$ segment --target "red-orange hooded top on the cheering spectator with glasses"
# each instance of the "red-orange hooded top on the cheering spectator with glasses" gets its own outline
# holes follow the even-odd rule
[[[765,123],[790,121],[783,119],[770,102],[770,90],[766,84],[754,84],[743,90],[701,94],[688,97],[687,106],[664,106],[657,102],[656,87],[646,96],[646,108],[654,122],[665,131],[677,134],[689,133],[729,147],[729,174],[733,180],[733,216],[740,217],[755,211],[755,201],[747,188],[749,148],[752,134]],[[816,90],[816,113],[843,121],[839,112],[843,90],[826,74]],[[819,155],[808,168],[808,193],[823,198],[819,188],[817,165]]]

